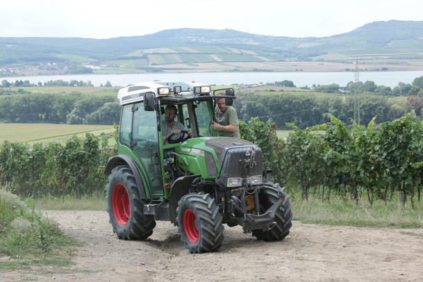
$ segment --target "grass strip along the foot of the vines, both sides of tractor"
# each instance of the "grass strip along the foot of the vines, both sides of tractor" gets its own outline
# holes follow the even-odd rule
[[[363,226],[375,228],[423,228],[423,203],[415,208],[404,208],[399,201],[385,204],[375,201],[373,206],[367,202],[355,204],[354,201],[342,199],[331,200],[331,203],[319,200],[292,201],[292,213],[295,220],[305,224],[327,224]],[[62,198],[43,197],[34,202],[41,210],[107,210],[105,197]]]

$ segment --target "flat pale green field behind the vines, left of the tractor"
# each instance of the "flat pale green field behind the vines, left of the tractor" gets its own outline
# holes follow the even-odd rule
[[[28,144],[58,142],[64,144],[66,140],[76,135],[85,138],[86,133],[101,135],[115,131],[111,125],[85,124],[0,124],[0,142],[28,142]]]

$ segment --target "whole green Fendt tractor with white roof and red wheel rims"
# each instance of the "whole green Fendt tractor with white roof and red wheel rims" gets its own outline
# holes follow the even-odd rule
[[[218,137],[217,92],[231,106],[233,88],[154,81],[119,90],[122,106],[118,154],[108,160],[107,204],[113,232],[145,240],[156,220],[178,226],[191,253],[217,251],[224,225],[242,226],[258,240],[278,241],[292,226],[291,204],[279,184],[265,182],[262,151],[239,138]],[[178,109],[187,131],[163,141],[165,107]],[[192,136],[188,136],[188,131]]]

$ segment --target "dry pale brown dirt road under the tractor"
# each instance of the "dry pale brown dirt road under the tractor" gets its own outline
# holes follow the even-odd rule
[[[103,211],[49,211],[85,242],[72,267],[0,273],[0,281],[423,281],[423,229],[293,222],[285,240],[260,242],[225,225],[212,254],[189,254],[177,228],[157,222],[146,241],[117,240]]]

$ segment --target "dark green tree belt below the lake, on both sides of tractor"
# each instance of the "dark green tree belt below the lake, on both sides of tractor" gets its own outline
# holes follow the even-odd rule
[[[51,82],[63,83],[63,81]],[[76,83],[80,82],[71,81],[69,85],[76,85]],[[292,81],[276,81],[267,84],[291,87],[294,85]],[[359,90],[356,92],[356,89]],[[352,124],[358,103],[360,120],[356,122],[368,124],[373,117],[376,117],[377,123],[383,123],[410,112],[420,117],[423,108],[422,89],[423,76],[415,78],[412,84],[398,83],[398,86],[393,89],[366,81],[365,83],[351,82],[346,87],[317,85],[311,93],[308,91],[238,91],[233,106],[238,112],[238,118],[244,122],[252,117],[259,117],[262,121],[272,119],[272,123],[278,128],[288,128],[287,123],[306,128],[331,122],[331,117],[345,124]],[[1,93],[2,88],[0,88]],[[7,93],[10,94],[10,92]],[[119,122],[120,108],[115,94],[103,97],[80,92],[42,94],[28,93],[23,88],[19,88],[13,94],[17,95],[3,94],[0,99],[0,122],[56,124],[117,124]],[[393,102],[389,99],[395,96],[406,96],[406,100]]]

